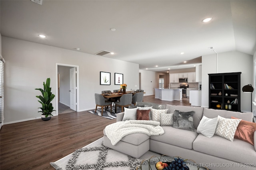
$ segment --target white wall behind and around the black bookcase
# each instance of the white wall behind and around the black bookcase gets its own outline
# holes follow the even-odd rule
[[[209,106],[209,76],[211,73],[242,72],[241,111],[250,111],[250,96],[242,92],[242,87],[252,84],[253,56],[238,51],[202,56],[202,107]]]

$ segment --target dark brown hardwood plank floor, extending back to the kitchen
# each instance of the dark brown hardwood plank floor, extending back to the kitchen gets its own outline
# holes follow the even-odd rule
[[[144,102],[190,106],[189,98],[162,101],[154,95]],[[116,122],[87,111],[3,125],[0,131],[1,170],[54,170],[50,162],[74,152],[103,136],[106,125]]]

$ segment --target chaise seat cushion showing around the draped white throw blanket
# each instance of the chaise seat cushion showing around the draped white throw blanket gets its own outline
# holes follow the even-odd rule
[[[106,135],[105,129],[103,130],[103,133],[104,133],[104,135]],[[123,137],[121,139],[121,141],[131,143],[133,145],[140,145],[141,143],[148,140],[149,138],[150,137],[144,133],[133,133],[130,135],[126,135],[125,137]]]

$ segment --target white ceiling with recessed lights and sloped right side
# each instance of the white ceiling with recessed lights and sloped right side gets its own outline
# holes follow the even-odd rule
[[[256,0],[1,0],[1,35],[167,71],[256,51]],[[202,20],[212,17],[212,21]],[[110,31],[116,28],[116,31]],[[42,39],[38,34],[47,37]],[[180,55],[180,52],[184,52]],[[188,61],[186,64],[183,61]],[[156,68],[156,65],[158,67]],[[186,67],[184,67],[186,65]]]

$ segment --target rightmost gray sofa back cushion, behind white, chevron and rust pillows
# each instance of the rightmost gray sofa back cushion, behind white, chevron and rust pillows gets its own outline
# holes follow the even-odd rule
[[[216,110],[216,109],[209,109],[209,108],[204,108],[204,116],[208,118],[214,118],[214,117],[225,117],[231,119],[231,116],[237,117],[238,119],[243,119],[245,121],[250,121],[252,122],[252,112],[245,112],[241,113],[238,111],[228,111],[228,110]]]

